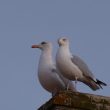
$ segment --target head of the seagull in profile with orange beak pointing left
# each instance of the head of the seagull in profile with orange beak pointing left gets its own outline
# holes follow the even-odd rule
[[[50,42],[41,42],[40,44],[35,44],[35,45],[32,45],[31,48],[39,48],[41,50],[50,50],[52,48],[52,45]]]

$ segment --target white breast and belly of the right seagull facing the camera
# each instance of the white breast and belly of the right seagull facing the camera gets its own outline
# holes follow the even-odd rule
[[[61,73],[68,79],[75,80],[75,77],[82,77],[81,70],[71,61],[71,54],[64,48],[58,50],[56,63]]]

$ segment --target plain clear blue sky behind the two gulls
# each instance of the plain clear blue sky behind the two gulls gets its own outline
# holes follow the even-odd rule
[[[50,99],[37,79],[41,41],[67,36],[73,54],[82,57],[100,80],[110,84],[109,0],[0,1],[0,110],[36,110]],[[80,92],[110,96],[110,87]]]

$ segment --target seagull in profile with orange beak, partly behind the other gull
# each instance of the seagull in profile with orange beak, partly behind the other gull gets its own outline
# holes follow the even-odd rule
[[[38,79],[45,90],[54,96],[58,91],[65,90],[69,83],[68,89],[76,91],[72,81],[63,77],[53,63],[52,44],[50,42],[43,41],[38,45],[32,45],[32,48],[41,50],[38,64]]]

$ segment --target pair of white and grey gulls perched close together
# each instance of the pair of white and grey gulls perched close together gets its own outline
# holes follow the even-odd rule
[[[80,57],[71,54],[67,38],[58,39],[58,44],[56,64],[52,59],[52,44],[50,42],[32,45],[32,48],[42,50],[38,65],[38,78],[44,89],[55,95],[64,89],[76,91],[72,81],[75,83],[77,81],[83,82],[92,90],[107,85],[94,77],[87,64]]]

